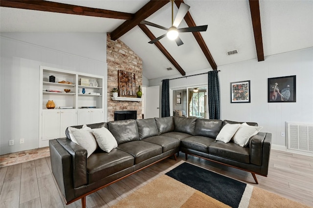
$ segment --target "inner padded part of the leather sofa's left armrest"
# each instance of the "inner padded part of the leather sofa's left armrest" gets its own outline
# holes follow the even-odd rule
[[[87,150],[73,143],[69,139],[57,139],[57,142],[71,156],[71,166],[67,168],[72,171],[73,187],[81,187],[88,183],[87,180]]]

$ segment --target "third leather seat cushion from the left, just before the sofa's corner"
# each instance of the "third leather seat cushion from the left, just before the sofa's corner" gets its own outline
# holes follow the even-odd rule
[[[180,141],[179,139],[175,139],[172,137],[165,137],[165,136],[154,136],[154,137],[148,137],[146,139],[143,139],[144,142],[150,142],[159,146],[162,146],[162,152],[167,152],[171,149],[175,149],[179,147]]]

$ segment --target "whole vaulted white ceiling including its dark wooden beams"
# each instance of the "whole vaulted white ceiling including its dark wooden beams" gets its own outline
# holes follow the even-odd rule
[[[312,0],[175,0],[174,17],[181,2],[190,9],[179,28],[208,25],[179,34],[181,46],[167,38],[149,44],[164,30],[139,24],[170,27],[169,0],[0,0],[0,32],[109,32],[142,58],[148,79],[313,47]]]

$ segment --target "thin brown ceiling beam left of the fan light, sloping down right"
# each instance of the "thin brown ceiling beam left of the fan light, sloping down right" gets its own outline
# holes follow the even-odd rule
[[[148,36],[148,38],[150,38],[150,40],[154,40],[156,39],[156,36],[154,36],[152,34],[152,32],[148,29],[148,27],[144,24],[138,24],[138,26],[140,27],[140,29]],[[164,46],[159,42],[155,42],[154,43],[156,45],[156,47],[164,54],[164,56],[168,59],[168,61],[170,61],[175,68],[179,71],[179,73],[182,76],[186,75],[186,72],[181,68],[181,66],[178,64],[178,62],[175,61],[175,59],[171,56],[171,54],[164,48]]]

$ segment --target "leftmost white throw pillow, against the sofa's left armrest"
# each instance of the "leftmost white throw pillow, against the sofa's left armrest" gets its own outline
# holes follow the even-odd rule
[[[88,129],[89,127],[87,127]],[[70,135],[71,141],[76,141],[76,144],[83,147],[87,150],[87,158],[96,150],[97,143],[94,139],[92,133],[86,128],[74,128],[74,127],[68,127],[68,132]]]

